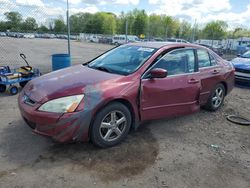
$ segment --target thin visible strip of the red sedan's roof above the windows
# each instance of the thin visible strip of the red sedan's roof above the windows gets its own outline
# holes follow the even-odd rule
[[[203,46],[192,44],[192,43],[176,43],[176,42],[137,42],[128,43],[127,45],[142,46],[148,48],[178,48],[178,47],[193,47],[193,48],[203,48]]]

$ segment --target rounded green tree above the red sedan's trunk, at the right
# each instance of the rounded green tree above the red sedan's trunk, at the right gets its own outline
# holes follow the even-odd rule
[[[203,29],[203,35],[207,39],[211,40],[220,40],[223,39],[227,34],[228,25],[224,21],[212,21],[206,24],[205,28]]]

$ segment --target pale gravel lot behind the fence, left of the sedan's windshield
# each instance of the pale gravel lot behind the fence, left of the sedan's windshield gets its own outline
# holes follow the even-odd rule
[[[71,42],[72,64],[87,62],[97,55],[113,48],[112,45],[95,43]],[[39,68],[42,73],[51,71],[52,54],[68,53],[67,40],[58,39],[16,39],[0,38],[0,66],[24,66],[24,61],[19,57],[24,53],[27,61],[34,68]]]

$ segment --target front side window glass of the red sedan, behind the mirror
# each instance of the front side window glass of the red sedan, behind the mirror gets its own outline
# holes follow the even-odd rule
[[[158,60],[153,68],[162,68],[168,75],[192,73],[195,70],[193,49],[178,49],[171,51]]]

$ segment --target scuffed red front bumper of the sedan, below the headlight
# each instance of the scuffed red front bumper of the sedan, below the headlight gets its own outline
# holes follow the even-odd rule
[[[91,117],[87,112],[40,112],[38,103],[27,104],[24,93],[18,97],[20,113],[33,132],[53,138],[58,142],[87,141]]]

